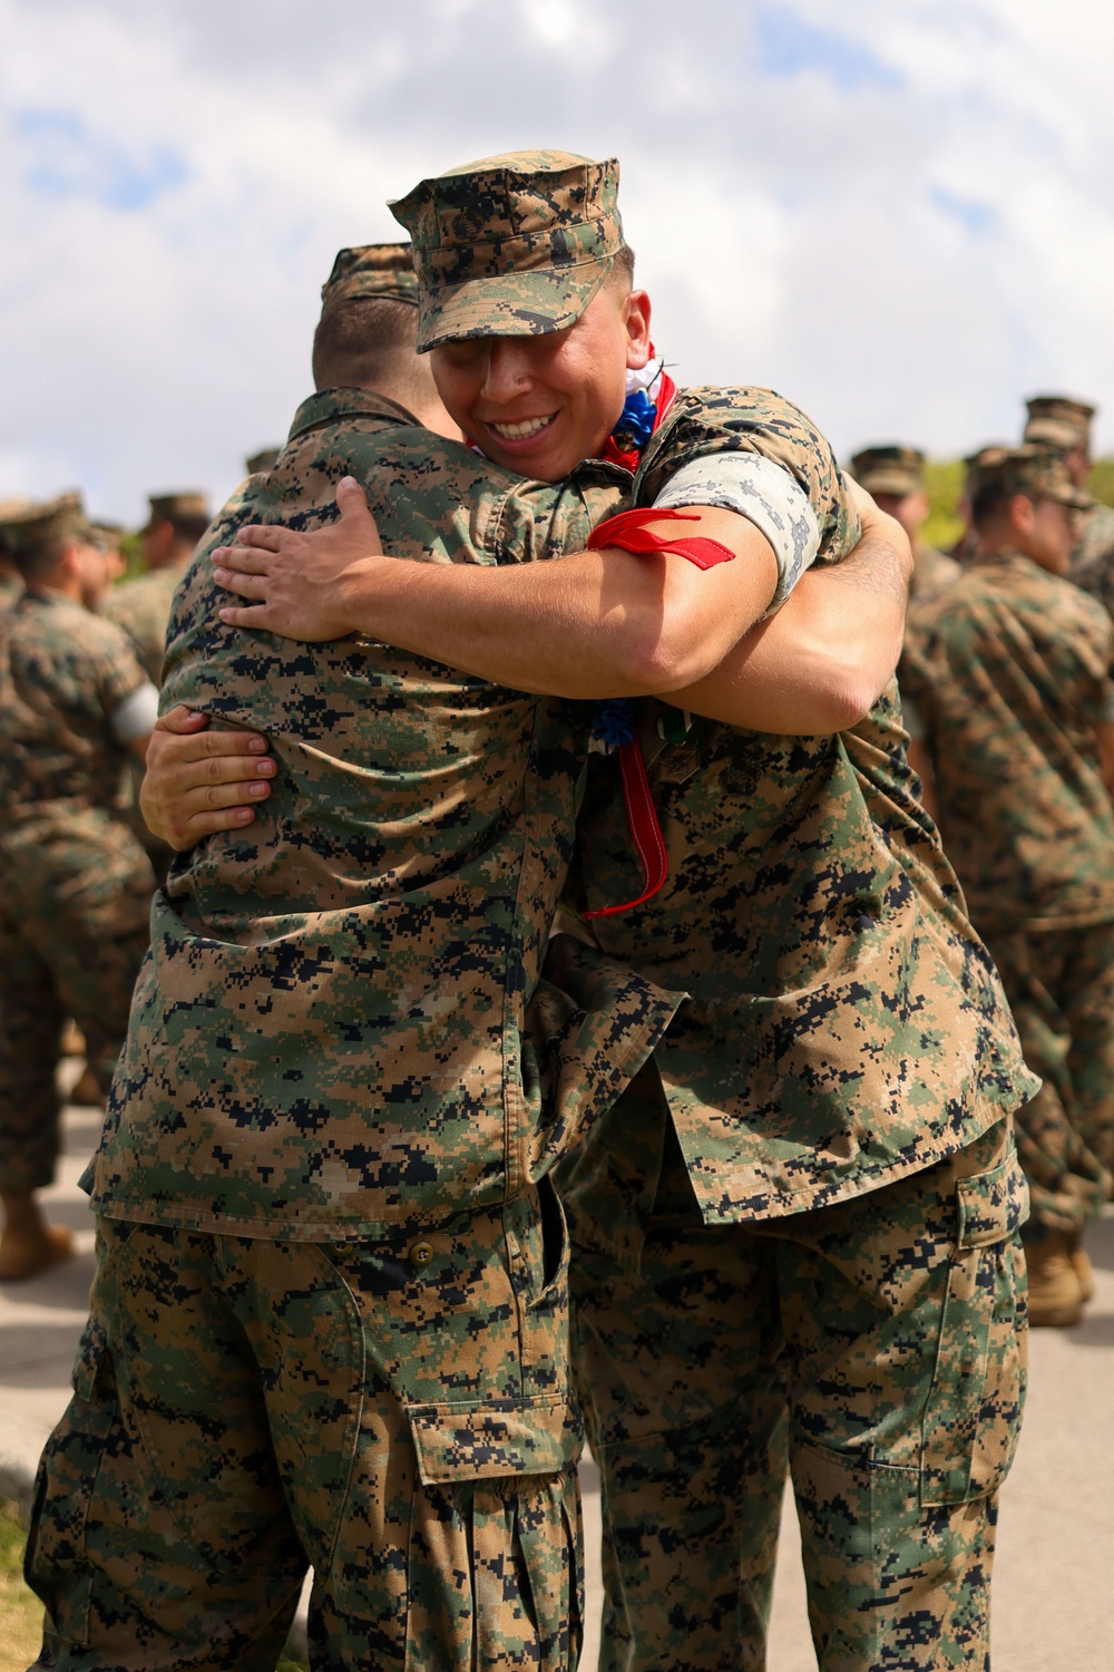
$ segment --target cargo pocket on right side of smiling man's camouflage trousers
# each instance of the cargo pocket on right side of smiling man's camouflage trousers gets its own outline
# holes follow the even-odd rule
[[[1025,1396],[1024,1257],[1029,1206],[1017,1155],[957,1184],[935,1374],[922,1428],[920,1501],[967,1503],[994,1491],[1017,1446]]]

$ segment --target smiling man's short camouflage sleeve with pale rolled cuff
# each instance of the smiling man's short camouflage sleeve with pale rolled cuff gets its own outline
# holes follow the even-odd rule
[[[681,390],[661,428],[651,436],[635,478],[635,503],[670,503],[670,483],[678,473],[691,473],[700,461],[710,480],[725,478],[720,460],[733,455],[735,488],[742,503],[730,508],[748,515],[767,533],[773,530],[783,547],[770,540],[785,563],[790,585],[808,562],[838,562],[857,545],[862,533],[858,512],[835,453],[810,418],[773,390],[693,388]],[[763,460],[763,466],[745,461]],[[790,483],[778,490],[782,472]],[[676,488],[673,488],[676,493]],[[750,510],[743,508],[750,497]],[[760,502],[765,500],[765,505]],[[686,503],[700,503],[695,498]],[[705,503],[725,503],[723,498]],[[807,507],[807,512],[805,512]],[[755,515],[752,515],[752,510]],[[763,525],[763,520],[765,525]],[[805,558],[815,522],[815,552]],[[782,527],[778,527],[782,525]],[[778,585],[778,592],[783,584]],[[785,587],[788,592],[788,587]]]

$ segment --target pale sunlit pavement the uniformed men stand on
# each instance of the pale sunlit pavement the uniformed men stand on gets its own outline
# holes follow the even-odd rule
[[[78,1237],[72,1264],[0,1286],[0,1491],[27,1493],[40,1446],[67,1401],[92,1277],[94,1232],[77,1177],[99,1114],[70,1110],[52,1216]],[[994,1660],[1000,1672],[1109,1672],[1114,1665],[1114,1217],[1092,1229],[1097,1297],[1071,1331],[1032,1339],[1025,1433],[1002,1496]],[[600,1490],[585,1466],[590,1630],[600,1613]],[[783,1522],[770,1672],[815,1672],[792,1503]]]

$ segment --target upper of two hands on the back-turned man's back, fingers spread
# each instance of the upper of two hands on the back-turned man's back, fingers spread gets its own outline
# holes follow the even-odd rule
[[[220,610],[229,627],[257,627],[282,639],[321,642],[359,630],[346,610],[352,590],[366,617],[367,582],[389,570],[364,490],[352,477],[337,483],[339,518],[312,533],[294,528],[241,528],[237,545],[212,553],[217,585],[249,604]],[[397,577],[397,570],[394,570]],[[386,573],[384,573],[386,580]]]

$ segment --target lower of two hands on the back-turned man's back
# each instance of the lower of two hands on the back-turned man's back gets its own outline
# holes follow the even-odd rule
[[[277,771],[257,732],[215,731],[207,714],[164,714],[147,746],[139,804],[147,826],[182,853],[214,831],[241,829]]]

